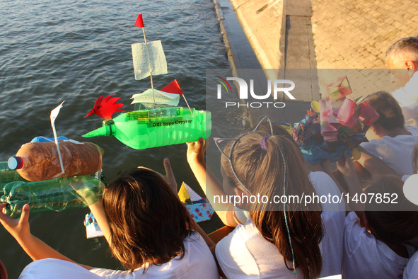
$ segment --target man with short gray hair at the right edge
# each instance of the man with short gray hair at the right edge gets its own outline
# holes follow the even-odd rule
[[[386,51],[386,66],[392,83],[400,87],[392,94],[400,104],[405,123],[418,125],[418,37],[397,40]]]

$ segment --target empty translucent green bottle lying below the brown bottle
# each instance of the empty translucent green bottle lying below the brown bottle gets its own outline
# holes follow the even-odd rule
[[[4,186],[1,203],[6,203],[6,214],[21,216],[22,207],[29,204],[30,213],[62,211],[86,207],[98,201],[104,185],[92,176],[71,176],[47,181],[15,181]]]

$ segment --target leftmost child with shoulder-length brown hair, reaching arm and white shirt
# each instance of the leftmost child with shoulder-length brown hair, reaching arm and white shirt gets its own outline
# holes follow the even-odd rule
[[[173,181],[168,160],[165,167]],[[78,265],[33,237],[27,205],[20,220],[0,213],[0,221],[34,260],[21,278],[219,278],[207,246],[211,241],[192,220],[176,190],[159,173],[138,168],[111,181],[103,198],[90,206],[113,256],[127,271]]]

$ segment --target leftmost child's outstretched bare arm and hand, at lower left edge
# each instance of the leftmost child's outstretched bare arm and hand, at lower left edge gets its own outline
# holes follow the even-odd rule
[[[3,213],[3,209],[6,204],[0,204],[0,222],[3,227],[18,241],[23,250],[33,259],[33,261],[41,260],[43,258],[57,258],[63,261],[72,261],[70,258],[60,254],[58,251],[52,249],[42,240],[33,236],[30,233],[29,226],[29,205],[24,205],[22,209],[22,215],[20,219],[11,219]],[[84,266],[77,263],[79,266],[88,270],[92,269],[91,266]]]

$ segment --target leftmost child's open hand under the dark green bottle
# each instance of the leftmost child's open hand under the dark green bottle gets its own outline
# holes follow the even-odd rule
[[[19,219],[11,219],[3,213],[6,203],[0,204],[0,222],[3,227],[15,238],[25,239],[30,235],[29,205],[23,205],[22,215]]]

